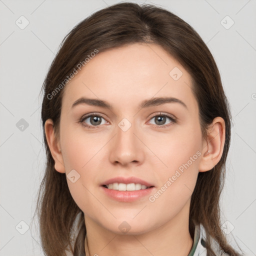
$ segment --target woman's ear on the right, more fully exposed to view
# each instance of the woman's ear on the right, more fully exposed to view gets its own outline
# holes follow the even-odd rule
[[[212,169],[220,160],[225,142],[225,121],[215,117],[207,130],[207,140],[203,143],[199,171]]]

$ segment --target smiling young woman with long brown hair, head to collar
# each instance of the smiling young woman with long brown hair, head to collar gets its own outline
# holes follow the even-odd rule
[[[46,255],[240,255],[220,223],[228,102],[186,22],[101,9],[64,38],[42,89]]]

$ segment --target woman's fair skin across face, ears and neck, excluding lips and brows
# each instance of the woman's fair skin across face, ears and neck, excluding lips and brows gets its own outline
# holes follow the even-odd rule
[[[174,80],[173,67],[182,71]],[[55,169],[75,169],[80,178],[70,193],[84,212],[90,255],[188,255],[192,238],[188,231],[189,205],[199,171],[209,171],[219,161],[224,145],[224,120],[216,117],[202,138],[198,104],[191,91],[191,77],[184,67],[157,44],[133,43],[99,52],[64,88],[60,135],[55,136],[52,120],[45,122],[47,142]],[[81,96],[102,99],[112,109],[71,105]],[[143,99],[175,97],[177,102],[139,108]],[[103,115],[96,128],[79,119],[87,113]],[[155,115],[169,114],[161,127]],[[157,116],[158,116],[157,115]],[[126,118],[127,131],[118,123]],[[90,118],[84,120],[93,126]],[[200,156],[153,202],[144,196],[132,202],[108,197],[100,184],[116,176],[135,176],[160,189],[189,157]],[[123,233],[118,226],[130,226]]]

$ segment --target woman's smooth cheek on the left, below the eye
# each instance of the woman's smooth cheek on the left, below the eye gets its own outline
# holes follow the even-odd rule
[[[87,209],[86,205],[93,204],[94,210],[96,207],[100,210],[100,205],[95,203],[92,193],[98,182],[96,170],[102,169],[100,163],[106,160],[103,159],[105,154],[102,154],[101,149],[107,138],[104,141],[104,137],[99,137],[96,133],[86,135],[81,128],[76,129],[75,132],[73,130],[74,128],[65,126],[61,133],[62,155],[69,191],[79,208]],[[75,176],[75,182],[69,179],[71,173]]]

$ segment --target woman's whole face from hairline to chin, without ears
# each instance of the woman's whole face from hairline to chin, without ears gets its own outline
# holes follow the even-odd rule
[[[191,86],[163,48],[142,43],[97,53],[67,83],[58,171],[86,227],[138,234],[188,221],[205,149]]]

